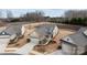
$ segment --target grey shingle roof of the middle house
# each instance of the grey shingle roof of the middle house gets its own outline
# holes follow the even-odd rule
[[[54,30],[55,25],[54,24],[42,24],[42,25],[39,25],[36,26],[36,29],[34,30],[34,32],[37,33],[37,37],[42,37],[43,36],[46,36],[46,35],[52,35],[53,33],[53,30]]]

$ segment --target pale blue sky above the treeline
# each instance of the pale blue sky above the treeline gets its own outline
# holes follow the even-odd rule
[[[0,10],[2,12],[2,17],[6,18],[7,10],[10,10],[13,13],[13,17],[20,17],[22,14],[25,14],[26,12],[34,12],[34,11],[43,11],[44,15],[46,17],[62,17],[65,11],[62,9],[2,9]]]

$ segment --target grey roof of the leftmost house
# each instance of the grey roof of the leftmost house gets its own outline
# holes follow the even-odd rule
[[[21,28],[23,24],[28,24],[29,22],[12,22],[7,26],[0,28],[0,35],[12,35],[12,34],[21,34]],[[6,29],[4,29],[6,28]],[[3,34],[4,32],[4,34]]]

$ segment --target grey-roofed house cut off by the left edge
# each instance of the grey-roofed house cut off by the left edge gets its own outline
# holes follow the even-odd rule
[[[10,36],[10,40],[14,40],[21,35],[20,25],[9,25],[3,31],[0,31],[0,36]]]

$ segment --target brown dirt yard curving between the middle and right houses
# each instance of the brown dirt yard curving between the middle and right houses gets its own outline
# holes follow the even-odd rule
[[[61,45],[61,39],[68,35],[68,34],[73,34],[75,33],[74,30],[67,30],[67,29],[59,29],[59,33],[54,37],[54,42],[50,42],[47,45],[36,45],[33,50],[37,51],[40,53],[43,54],[48,54],[52,53],[54,51],[56,51],[58,48],[58,46]]]

